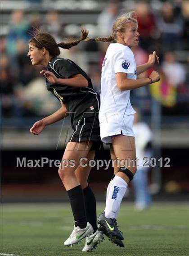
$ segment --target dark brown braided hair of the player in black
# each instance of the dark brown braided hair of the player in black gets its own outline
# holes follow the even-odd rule
[[[72,46],[76,46],[80,41],[85,40],[89,32],[85,28],[81,28],[81,33],[81,37],[77,40],[69,39],[68,42],[60,42],[57,44],[53,36],[49,33],[40,32],[40,30],[36,28],[36,31],[33,32],[33,38],[29,40],[29,43],[33,43],[39,49],[45,47],[45,49],[49,51],[50,56],[56,57],[60,54],[58,47],[70,49]]]

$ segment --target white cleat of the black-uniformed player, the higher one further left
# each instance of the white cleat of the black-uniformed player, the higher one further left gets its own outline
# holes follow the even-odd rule
[[[89,236],[93,233],[93,227],[89,222],[87,222],[86,228],[85,229],[80,229],[80,227],[75,227],[69,236],[67,240],[63,243],[66,246],[72,246],[72,244],[80,242],[83,238],[86,236]]]

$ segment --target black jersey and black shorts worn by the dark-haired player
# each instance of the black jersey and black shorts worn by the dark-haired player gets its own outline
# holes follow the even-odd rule
[[[47,90],[66,105],[71,117],[74,130],[70,142],[94,141],[99,142],[99,95],[94,91],[92,82],[79,66],[70,59],[52,58],[46,70],[51,71],[57,78],[70,78],[81,74],[88,81],[88,87],[73,87],[55,84],[46,79]],[[97,147],[98,147],[97,143]]]

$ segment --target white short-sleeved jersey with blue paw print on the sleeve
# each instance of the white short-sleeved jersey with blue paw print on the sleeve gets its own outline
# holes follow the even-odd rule
[[[117,88],[116,73],[126,73],[127,78],[136,79],[136,63],[128,46],[110,44],[102,64],[100,83],[99,120],[105,114],[135,114],[130,104],[130,90]]]

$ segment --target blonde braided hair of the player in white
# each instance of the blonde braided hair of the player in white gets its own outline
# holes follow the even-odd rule
[[[130,11],[124,14],[121,14],[121,16],[119,16],[116,21],[113,24],[112,27],[112,35],[109,37],[97,37],[94,39],[91,39],[89,37],[87,37],[85,39],[85,41],[99,41],[99,42],[111,42],[117,39],[117,32],[123,32],[125,27],[126,27],[126,23],[129,22],[134,22],[137,23],[137,14],[135,11]]]

